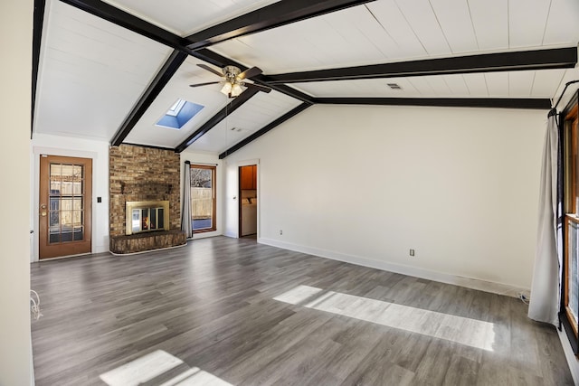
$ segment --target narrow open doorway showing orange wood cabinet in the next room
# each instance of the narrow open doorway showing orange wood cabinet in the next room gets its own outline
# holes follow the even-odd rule
[[[239,236],[257,236],[257,165],[239,167]]]

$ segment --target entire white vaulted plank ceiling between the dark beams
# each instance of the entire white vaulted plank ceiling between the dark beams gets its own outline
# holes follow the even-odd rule
[[[112,5],[160,31],[187,38],[218,24],[233,25],[228,21],[252,11],[271,6],[285,9],[280,5],[292,2],[47,1],[33,133],[112,141],[126,127],[126,118],[131,117],[174,51],[174,46],[145,37],[140,30],[132,32],[126,25],[85,12],[81,9],[85,4]],[[301,4],[306,6],[307,2]],[[259,17],[274,17],[261,11]],[[278,16],[284,15],[275,15]],[[261,23],[259,17],[253,24]],[[257,66],[263,75],[252,80],[272,85],[268,81],[275,80],[276,75],[303,71],[448,58],[460,62],[460,57],[470,55],[576,48],[577,20],[576,0],[376,0],[256,33],[235,35],[229,40],[209,42],[198,51],[210,59],[188,56],[155,94],[150,106],[129,125],[123,142],[181,150],[188,146],[221,154],[297,108],[303,101],[300,99],[307,99],[308,103],[335,98],[352,99],[352,103],[356,103],[356,98],[556,99],[567,81],[579,79],[576,66],[524,71],[485,71],[482,66],[469,73],[289,80],[280,84],[282,89],[269,94],[259,92],[227,118],[218,119],[203,136],[191,144],[187,142],[232,101],[219,92],[219,84],[189,87],[219,80],[197,64],[217,71],[218,61],[222,65],[237,62],[246,67]],[[400,89],[391,89],[388,83],[396,83]],[[298,96],[300,99],[294,98],[292,89],[303,93]],[[158,119],[176,99],[204,108],[180,130],[157,127]]]

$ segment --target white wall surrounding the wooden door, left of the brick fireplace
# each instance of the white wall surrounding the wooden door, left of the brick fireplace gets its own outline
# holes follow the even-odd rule
[[[42,122],[38,123],[42,125]],[[109,250],[109,143],[74,137],[34,134],[31,154],[31,205],[39,207],[39,174],[41,155],[64,155],[92,159],[92,252]],[[101,202],[97,202],[97,197]],[[33,261],[38,260],[38,211],[31,211],[34,229]]]

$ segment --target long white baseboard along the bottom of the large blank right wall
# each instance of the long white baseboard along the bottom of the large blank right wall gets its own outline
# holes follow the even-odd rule
[[[478,289],[480,291],[490,292],[498,295],[505,295],[508,297],[518,297],[518,294],[520,293],[523,293],[528,296],[530,291],[529,288],[514,287],[508,284],[495,283],[492,281],[481,280],[478,278],[465,278],[461,276],[451,275],[448,273],[433,271],[430,269],[404,266],[402,264],[395,264],[388,261],[366,259],[359,256],[346,255],[343,253],[334,252],[326,249],[306,247],[303,245],[292,244],[280,240],[259,238],[257,242],[260,244],[271,245],[272,247],[289,249],[294,250],[296,252],[306,253],[308,255],[319,256],[321,258],[344,261],[346,263],[356,264],[357,266],[382,269],[389,272],[413,276],[415,278],[426,278],[429,280],[440,281],[441,283]]]

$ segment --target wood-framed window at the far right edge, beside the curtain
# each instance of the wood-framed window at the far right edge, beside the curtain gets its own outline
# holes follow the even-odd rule
[[[573,346],[579,353],[579,127],[577,99],[561,115],[564,141],[565,235],[563,294],[560,319]]]

